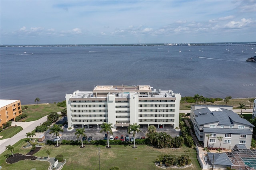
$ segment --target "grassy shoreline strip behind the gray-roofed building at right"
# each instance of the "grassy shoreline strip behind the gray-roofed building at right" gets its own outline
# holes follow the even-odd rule
[[[233,109],[239,109],[237,108],[239,106],[239,103],[244,103],[248,109],[252,108],[253,103],[250,107],[250,101],[249,99],[230,99],[227,103],[228,106],[233,106]],[[200,105],[199,103],[180,103],[180,110],[190,110],[190,105]],[[215,103],[207,102],[206,105],[226,105],[226,102],[224,101],[217,101]]]

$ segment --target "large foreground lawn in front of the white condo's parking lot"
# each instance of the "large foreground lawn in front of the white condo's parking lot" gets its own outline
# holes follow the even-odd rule
[[[15,144],[14,153],[26,154],[30,149],[23,149],[22,146],[25,140],[20,140]],[[53,145],[46,145],[41,148],[39,152],[33,156],[46,157],[46,150],[50,150],[50,157],[55,157],[58,154],[62,154],[67,160],[66,164],[62,170],[70,169],[86,169],[86,170],[98,170],[99,169],[99,156],[98,149],[100,147],[100,168],[102,170],[108,170],[112,166],[118,166],[122,170],[140,169],[140,170],[160,170],[154,165],[158,154],[187,154],[192,160],[192,166],[186,168],[185,170],[200,170],[200,165],[196,159],[196,150],[194,148],[187,148],[182,146],[180,149],[156,149],[147,145],[138,145],[136,149],[132,148],[133,145],[112,145],[110,149],[106,149],[105,146],[96,145],[85,145],[85,148],[80,148],[80,146],[72,145],[61,145],[55,148]],[[5,151],[3,155],[7,152]],[[26,166],[31,169],[36,168],[36,170],[41,170],[48,168],[47,163],[42,163],[40,161],[27,160],[22,161],[22,163],[17,162],[14,164],[6,164],[4,159],[6,157],[1,156],[1,166],[5,170],[19,169],[22,163],[26,163]],[[41,165],[38,165],[38,164]],[[171,168],[168,168],[171,169]]]

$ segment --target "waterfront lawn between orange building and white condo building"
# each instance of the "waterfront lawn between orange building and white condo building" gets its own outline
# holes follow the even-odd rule
[[[38,104],[38,105],[26,105],[28,106],[28,109],[26,109],[22,114],[28,115],[28,117],[25,118],[26,122],[30,121],[36,121],[46,115],[48,115],[50,112],[60,112],[62,111],[61,107],[58,107],[57,104]],[[22,121],[22,120],[20,120]]]

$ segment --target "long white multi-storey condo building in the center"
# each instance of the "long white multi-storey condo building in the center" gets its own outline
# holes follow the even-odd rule
[[[150,85],[96,86],[93,91],[66,94],[68,127],[112,123],[114,130],[129,124],[179,127],[180,94]]]

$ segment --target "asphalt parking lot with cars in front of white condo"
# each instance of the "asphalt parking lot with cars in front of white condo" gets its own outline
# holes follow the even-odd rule
[[[65,119],[65,118],[64,118]],[[57,124],[61,124],[62,121],[64,121],[64,119],[60,119]],[[136,133],[135,138],[137,138],[137,136],[140,136],[140,138],[142,136],[146,136],[146,132],[148,130],[147,128],[148,126],[144,125],[140,128],[141,132]],[[63,132],[60,132],[60,134],[62,134],[62,138],[60,139],[63,140],[76,140],[76,128],[82,128],[82,126],[78,126],[74,129],[72,129],[71,131],[67,130],[68,126],[65,125],[63,127]],[[103,139],[105,136],[105,132],[100,132],[101,128],[97,128],[97,126],[92,126],[91,128],[85,128],[85,134],[86,136],[92,136],[92,140],[100,140]],[[166,125],[165,128],[156,128],[157,132],[166,132],[168,134],[170,134],[172,137],[175,137],[176,135],[180,135],[180,131],[176,131],[174,130],[171,126]],[[49,134],[50,130],[48,129],[46,132],[44,132],[45,135],[45,141],[46,140],[54,140],[56,137],[56,134]],[[121,135],[123,135],[124,137],[128,134],[127,132],[127,127],[123,127],[123,128],[118,128],[118,130],[113,131],[113,136],[118,136],[118,138],[121,137]],[[132,136],[131,134],[128,134],[129,137]],[[108,135],[108,137],[110,137],[110,134]],[[79,138],[80,140],[80,138]]]

